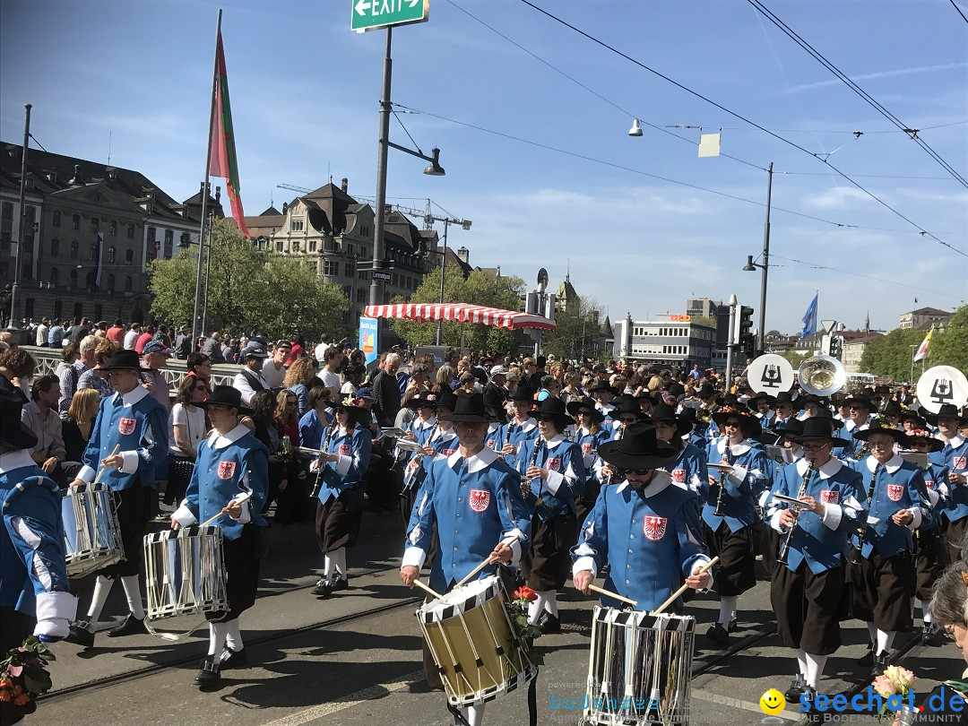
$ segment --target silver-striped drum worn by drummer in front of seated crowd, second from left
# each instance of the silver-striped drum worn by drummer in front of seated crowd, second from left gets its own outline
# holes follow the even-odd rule
[[[188,527],[144,535],[149,632],[178,638],[205,624],[206,613],[228,610],[222,529]],[[174,620],[177,616],[186,616]],[[154,627],[159,620],[173,630]]]

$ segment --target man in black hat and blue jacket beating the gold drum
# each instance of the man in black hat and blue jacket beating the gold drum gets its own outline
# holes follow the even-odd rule
[[[430,573],[430,587],[443,593],[453,588],[482,560],[518,566],[529,548],[529,508],[521,492],[518,472],[500,461],[497,452],[484,446],[491,417],[479,393],[461,395],[454,411],[447,412],[460,439],[460,448],[427,469],[407,528],[400,579],[412,587],[420,576],[431,546],[431,532],[438,526],[439,556]],[[511,537],[516,537],[506,543]],[[485,567],[478,579],[495,572]],[[430,650],[424,644],[424,666],[429,687],[442,689]],[[480,724],[484,706],[462,710],[470,724]]]

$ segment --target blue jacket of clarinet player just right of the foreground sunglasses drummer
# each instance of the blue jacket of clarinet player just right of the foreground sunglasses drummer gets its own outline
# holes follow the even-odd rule
[[[706,461],[709,464],[719,464],[723,460],[725,445],[725,437],[711,441],[706,447]],[[730,531],[739,531],[756,524],[759,521],[756,501],[764,489],[771,487],[770,460],[767,459],[759,443],[746,439],[742,443],[730,446],[730,452],[733,471],[726,477],[726,492],[723,494],[722,506],[724,516],[717,517],[714,514],[719,492],[718,483],[709,488],[706,506],[703,507],[703,521],[712,531],[719,529],[719,525],[724,521]],[[718,471],[712,469],[711,475],[718,478]]]

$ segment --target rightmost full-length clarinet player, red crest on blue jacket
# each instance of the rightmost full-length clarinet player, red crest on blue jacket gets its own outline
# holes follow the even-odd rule
[[[851,406],[852,416],[856,410]],[[866,621],[870,633],[870,651],[860,663],[879,675],[888,665],[894,635],[911,627],[911,532],[922,523],[927,491],[921,469],[894,452],[894,443],[906,443],[902,432],[863,429],[854,439],[870,446],[870,455],[852,465],[864,477],[868,514],[866,526],[852,537],[859,552],[847,574],[853,586],[853,616]]]

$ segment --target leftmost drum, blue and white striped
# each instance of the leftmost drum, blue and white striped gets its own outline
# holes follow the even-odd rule
[[[124,560],[121,528],[110,487],[80,484],[61,501],[67,574],[83,577]]]

